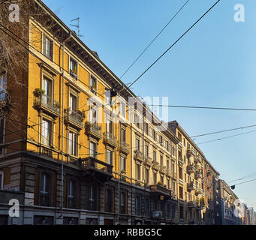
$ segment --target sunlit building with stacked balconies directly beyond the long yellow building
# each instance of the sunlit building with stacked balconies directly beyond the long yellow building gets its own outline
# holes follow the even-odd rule
[[[177,157],[179,220],[181,224],[204,224],[204,166],[203,153],[177,121],[168,123],[179,139]]]

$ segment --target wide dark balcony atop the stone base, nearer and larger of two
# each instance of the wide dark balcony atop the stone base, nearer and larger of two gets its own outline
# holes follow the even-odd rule
[[[101,182],[109,181],[113,177],[113,166],[94,157],[83,158],[79,164],[84,176],[91,178],[93,175]]]

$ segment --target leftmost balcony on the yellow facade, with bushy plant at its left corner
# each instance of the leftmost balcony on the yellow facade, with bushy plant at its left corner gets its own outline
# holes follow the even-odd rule
[[[36,110],[42,110],[53,116],[59,116],[60,114],[60,104],[51,96],[39,95],[38,97],[35,97],[33,107]]]

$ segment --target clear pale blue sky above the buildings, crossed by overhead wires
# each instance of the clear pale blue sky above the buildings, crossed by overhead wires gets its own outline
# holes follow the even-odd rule
[[[69,26],[80,17],[81,39],[120,77],[185,0],[44,0]],[[215,1],[191,0],[142,58],[122,78],[133,82]],[[245,23],[234,6],[245,6]],[[171,105],[256,108],[256,1],[221,0],[205,18],[151,68],[132,89],[141,97],[168,97]],[[70,26],[71,27],[71,26]],[[72,28],[72,27],[71,27]],[[161,101],[160,101],[161,104]],[[169,108],[190,136],[256,124],[255,112]],[[204,136],[205,142],[249,130]],[[199,145],[221,178],[256,172],[256,132]],[[246,178],[241,181],[256,178]],[[240,181],[240,182],[241,182]],[[256,208],[256,181],[234,192]]]

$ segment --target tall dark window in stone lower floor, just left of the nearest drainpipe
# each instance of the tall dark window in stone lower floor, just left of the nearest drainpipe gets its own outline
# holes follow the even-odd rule
[[[50,206],[50,175],[41,175],[40,205]]]

